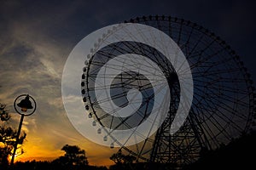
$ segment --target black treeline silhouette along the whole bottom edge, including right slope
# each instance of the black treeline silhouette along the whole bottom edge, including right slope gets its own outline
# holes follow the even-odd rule
[[[134,157],[125,156],[119,151],[110,159],[115,163],[113,166],[97,167],[90,166],[87,158],[84,157],[84,151],[79,148],[75,149],[76,159],[67,160],[69,157],[67,152],[72,151],[77,146],[65,145],[66,154],[59,157],[55,161],[26,161],[16,162],[13,170],[165,170],[177,169],[177,165],[138,162],[134,163]],[[70,150],[72,149],[72,150]],[[73,150],[74,151],[74,150]],[[256,133],[250,133],[241,136],[240,139],[234,139],[230,144],[223,145],[217,150],[208,150],[202,153],[201,158],[192,164],[181,169],[183,170],[216,170],[216,169],[251,169],[255,165],[256,153]],[[69,157],[70,158],[70,157]],[[75,161],[77,160],[77,161]]]

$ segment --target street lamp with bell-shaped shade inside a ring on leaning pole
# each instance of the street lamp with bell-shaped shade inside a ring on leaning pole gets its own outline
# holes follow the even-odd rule
[[[24,97],[25,97],[25,99],[24,99]],[[32,101],[30,99],[32,99]],[[20,130],[21,130],[24,116],[31,116],[36,111],[37,104],[36,104],[35,99],[33,99],[32,96],[30,96],[29,94],[21,94],[20,96],[18,96],[15,99],[14,106],[15,106],[15,111],[17,113],[19,113],[21,117],[20,117],[18,133],[17,133],[16,140],[15,140],[14,153],[13,153],[12,160],[10,163],[12,166],[14,165],[14,162],[15,162],[15,153],[16,153],[17,146],[18,146],[19,139],[20,139]]]

